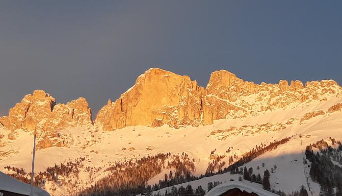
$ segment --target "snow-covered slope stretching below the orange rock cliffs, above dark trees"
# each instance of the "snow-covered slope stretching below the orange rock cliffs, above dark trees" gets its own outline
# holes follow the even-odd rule
[[[46,172],[48,167],[78,162],[79,172],[65,175],[54,173],[40,186],[54,196],[70,195],[94,185],[110,174],[106,170],[115,162],[136,161],[142,157],[158,153],[182,154],[185,152],[195,165],[194,175],[204,174],[209,163],[220,157],[218,163],[229,166],[229,159],[235,155],[237,161],[253,147],[268,145],[286,137],[291,140],[277,149],[264,153],[246,166],[262,175],[264,169],[270,170],[274,164],[277,169],[271,173],[271,188],[286,193],[305,185],[302,150],[317,140],[329,137],[342,141],[342,112],[331,110],[341,103],[342,98],[303,103],[292,109],[267,111],[259,116],[240,119],[215,120],[213,124],[170,128],[168,125],[152,128],[148,126],[129,126],[115,131],[102,131],[95,127],[74,127],[58,131],[58,140],[63,147],[48,147],[36,152],[36,172]],[[330,110],[329,110],[330,109]],[[323,112],[317,112],[317,111]],[[30,171],[32,142],[31,132],[21,129],[14,132],[0,130],[0,171],[13,173],[5,166],[23,168]],[[302,135],[302,144],[299,135]],[[15,136],[14,140],[11,135]],[[38,138],[38,141],[42,138]],[[228,150],[229,149],[229,150]],[[81,158],[81,159],[80,159]],[[297,160],[297,161],[295,161]],[[262,163],[265,167],[262,167]],[[148,183],[155,184],[164,179],[164,174],[174,168],[164,168]],[[260,166],[260,171],[256,168]],[[89,170],[92,168],[93,170]],[[217,168],[215,169],[217,171]],[[93,171],[93,172],[92,172]],[[94,172],[96,171],[96,172]],[[194,186],[207,187],[211,181],[237,180],[238,174],[224,173],[193,181]],[[28,176],[27,176],[28,177]],[[77,180],[76,180],[77,179]],[[315,193],[319,187],[311,182]],[[180,186],[180,185],[178,185]],[[255,184],[252,186],[261,186]],[[160,190],[163,193],[164,190]]]

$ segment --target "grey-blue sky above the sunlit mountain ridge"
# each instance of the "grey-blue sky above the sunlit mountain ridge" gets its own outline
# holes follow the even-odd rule
[[[94,118],[151,67],[341,85],[342,1],[0,1],[0,116],[42,89]]]

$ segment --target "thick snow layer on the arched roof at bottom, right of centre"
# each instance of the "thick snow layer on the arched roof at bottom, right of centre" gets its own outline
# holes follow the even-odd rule
[[[253,186],[248,186],[248,184],[246,183],[237,181],[229,181],[226,183],[222,183],[211,189],[205,196],[220,196],[226,193],[227,191],[235,188],[238,188],[240,191],[246,191],[247,193],[255,193],[258,196],[278,196],[272,192],[263,189],[258,189]]]

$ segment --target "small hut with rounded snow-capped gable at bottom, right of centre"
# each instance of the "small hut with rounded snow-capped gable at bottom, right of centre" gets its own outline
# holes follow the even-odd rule
[[[229,181],[211,189],[205,196],[278,196],[256,184]]]

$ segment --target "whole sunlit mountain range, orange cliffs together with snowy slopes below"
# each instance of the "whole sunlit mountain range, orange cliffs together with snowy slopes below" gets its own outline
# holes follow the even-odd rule
[[[342,141],[342,87],[334,80],[255,84],[220,70],[211,73],[204,88],[189,76],[151,68],[120,98],[109,99],[96,119],[91,117],[85,98],[64,104],[43,90],[26,95],[8,116],[0,118],[0,170],[28,178],[35,132],[37,171],[42,172],[37,186],[56,196],[89,193],[103,186],[104,179],[116,176],[119,163],[129,170],[131,164],[160,153],[165,157],[158,158],[155,170],[149,168],[149,174],[140,176],[142,180],[134,186],[160,184],[164,174],[172,179],[170,173],[177,172],[193,176],[196,186],[206,186],[208,179],[238,180],[234,173],[221,172],[217,178],[208,173],[223,171],[265,144],[290,138],[278,149],[246,163],[254,171],[264,163],[260,173],[276,164],[279,172],[271,173],[270,179],[278,184],[272,188],[290,193],[299,188],[298,183],[306,184],[305,165],[298,160],[305,159],[305,147],[321,139],[331,145],[329,138]],[[177,164],[185,169],[180,171]],[[56,172],[57,165],[77,167],[77,171]],[[44,174],[49,167],[55,167],[53,177]],[[208,176],[197,179],[201,174]],[[286,177],[299,180],[290,182]],[[318,194],[319,184],[310,182]],[[122,184],[112,188],[115,186]]]

